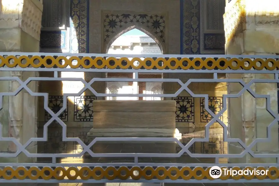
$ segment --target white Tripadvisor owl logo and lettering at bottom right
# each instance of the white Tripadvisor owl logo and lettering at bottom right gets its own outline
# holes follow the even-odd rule
[[[223,171],[222,171],[223,170]],[[231,168],[223,168],[221,169],[219,166],[213,166],[209,170],[209,175],[214,178],[220,178],[222,175],[222,172],[224,176],[230,175],[230,176],[236,176],[236,175],[268,175],[268,170],[257,170],[257,169],[252,169],[252,170],[232,170]]]

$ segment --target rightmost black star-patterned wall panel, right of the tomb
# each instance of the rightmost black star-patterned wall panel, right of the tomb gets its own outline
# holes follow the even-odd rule
[[[208,97],[208,108],[215,114],[220,112],[223,108],[223,98],[222,97]],[[221,115],[220,120],[223,121],[223,115]],[[210,122],[212,116],[205,109],[204,98],[201,98],[201,122]]]

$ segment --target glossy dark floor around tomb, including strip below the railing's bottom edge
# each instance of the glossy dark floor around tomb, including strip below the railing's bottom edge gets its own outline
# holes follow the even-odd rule
[[[67,128],[67,137],[77,137],[82,139],[85,144],[89,144],[90,140],[87,139],[87,132],[91,128]],[[182,138],[180,141],[185,145],[192,138],[204,138],[205,131],[204,129],[188,129],[183,128],[179,129],[180,133],[182,133]],[[42,129],[38,130],[38,137],[42,137]],[[219,129],[210,129],[209,142],[198,142],[193,144],[189,150],[192,153],[204,153],[204,154],[226,154],[227,153],[227,142],[223,141],[223,128]],[[144,153],[167,153],[163,152],[160,143],[144,143],[138,145],[131,144],[97,144],[93,146],[93,152],[102,151],[103,153],[136,153],[136,152],[144,152]],[[105,149],[101,149],[100,147]],[[129,152],[125,152],[129,150]],[[181,148],[176,146],[176,153],[179,152]],[[62,141],[62,131],[61,128],[48,128],[48,141],[47,142],[38,142],[38,153],[79,153],[82,151],[82,147],[80,144],[76,142],[65,142]],[[129,158],[92,158],[88,155],[84,155],[82,157],[74,157],[74,158],[62,158],[57,162],[63,163],[83,163],[83,162],[133,162],[134,159]],[[38,162],[51,162],[51,159],[41,158],[38,159]],[[188,154],[183,154],[183,156],[179,158],[142,158],[139,159],[139,162],[176,162],[176,163],[213,163],[213,158],[192,158]],[[227,159],[220,158],[220,163],[227,163]],[[150,183],[107,183],[107,184],[36,184],[36,186],[162,186],[164,184],[150,184]],[[228,184],[166,184],[165,186],[227,186]],[[240,183],[239,185],[242,186]],[[245,184],[243,184],[245,186]]]

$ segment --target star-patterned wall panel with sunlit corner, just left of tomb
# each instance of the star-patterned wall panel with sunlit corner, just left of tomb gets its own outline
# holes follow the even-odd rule
[[[96,96],[85,95],[74,97],[74,121],[92,122],[93,121],[93,101]]]

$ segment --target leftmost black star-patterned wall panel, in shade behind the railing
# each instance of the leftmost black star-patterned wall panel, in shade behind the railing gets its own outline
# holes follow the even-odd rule
[[[48,107],[52,110],[52,112],[56,114],[63,107],[63,96],[62,95],[48,96]],[[64,122],[68,121],[68,99],[67,99],[67,107],[59,115],[59,118]],[[48,121],[50,119],[51,119],[51,115],[47,111],[45,111],[45,121]]]

